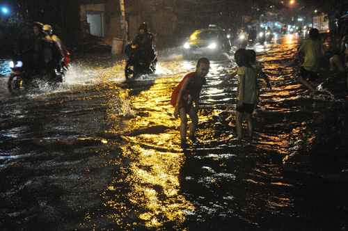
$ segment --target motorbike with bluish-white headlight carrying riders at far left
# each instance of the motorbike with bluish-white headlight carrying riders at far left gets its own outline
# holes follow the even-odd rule
[[[12,72],[8,77],[8,90],[11,93],[38,88],[40,81],[47,81],[50,86],[57,86],[58,83],[65,81],[68,62],[65,62],[64,68],[61,61],[56,61],[54,64],[47,65],[46,68],[37,69],[33,68],[31,60],[31,52],[24,51],[10,61]]]

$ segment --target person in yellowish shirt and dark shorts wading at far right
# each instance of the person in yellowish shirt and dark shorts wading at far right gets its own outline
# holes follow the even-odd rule
[[[324,56],[324,47],[319,40],[319,31],[317,29],[310,29],[309,37],[310,40],[303,42],[303,45],[299,48],[299,51],[296,52],[296,55],[300,58],[300,53],[303,52],[304,54],[299,80],[314,93],[317,90],[313,82],[318,79],[317,72],[319,70],[320,60],[322,56]]]

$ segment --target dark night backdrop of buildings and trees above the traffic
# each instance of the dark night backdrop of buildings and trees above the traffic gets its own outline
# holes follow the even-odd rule
[[[105,4],[104,27],[110,33],[101,39],[120,38],[120,3],[118,1],[88,1],[88,0],[14,0],[1,1],[1,34],[0,45],[2,53],[10,52],[13,43],[27,38],[31,33],[32,22],[50,24],[54,33],[65,42],[70,49],[82,49],[84,36],[81,19],[81,5]],[[162,35],[159,46],[176,46],[191,31],[205,28],[209,24],[216,24],[223,29],[237,31],[246,26],[253,19],[260,22],[278,21],[283,24],[298,24],[297,18],[303,18],[303,24],[312,23],[315,15],[327,14],[332,22],[338,26],[340,17],[347,14],[347,1],[270,1],[270,0],[153,0],[153,1],[125,1],[125,17],[129,23],[129,31],[136,30],[141,22],[148,22],[150,28]],[[4,12],[3,9],[7,9]],[[155,13],[166,10],[164,15],[158,15],[152,22]],[[173,16],[168,17],[168,13]],[[110,18],[118,18],[111,22]],[[130,17],[136,17],[132,24]],[[159,26],[162,21],[162,26]],[[171,25],[172,24],[172,25]],[[116,27],[116,29],[115,29]],[[169,27],[169,28],[168,28]],[[108,29],[114,28],[114,29]],[[339,31],[336,31],[339,34]],[[134,33],[134,36],[136,33]],[[129,40],[133,39],[132,36]]]

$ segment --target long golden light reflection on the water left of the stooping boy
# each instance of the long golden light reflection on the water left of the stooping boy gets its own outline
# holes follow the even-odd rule
[[[166,223],[175,223],[173,229],[181,230],[180,224],[187,213],[195,209],[179,193],[184,154],[177,145],[179,132],[173,129],[180,120],[173,119],[173,107],[169,104],[177,80],[162,81],[164,79],[155,80],[148,90],[134,96],[129,95],[129,88],[118,88],[109,101],[109,118],[114,122],[105,132],[116,134],[120,132],[121,121],[125,122],[122,138],[128,143],[122,146],[125,159],[120,170],[102,193],[106,200],[104,205],[109,208],[108,218],[120,228],[137,225],[160,228]],[[120,102],[125,100],[132,104],[123,105],[120,110]],[[128,120],[122,120],[122,111],[133,114]],[[120,163],[116,161],[115,164]]]

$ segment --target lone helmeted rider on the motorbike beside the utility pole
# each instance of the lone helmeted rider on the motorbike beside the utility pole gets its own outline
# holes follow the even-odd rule
[[[133,45],[136,47],[136,53],[139,57],[145,57],[148,65],[155,59],[155,44],[152,33],[148,31],[148,24],[143,22],[139,26],[139,33],[134,38]]]

